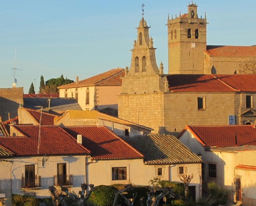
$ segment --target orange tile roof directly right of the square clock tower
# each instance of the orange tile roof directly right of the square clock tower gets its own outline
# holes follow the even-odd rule
[[[256,57],[256,46],[207,45],[205,52],[209,56]]]

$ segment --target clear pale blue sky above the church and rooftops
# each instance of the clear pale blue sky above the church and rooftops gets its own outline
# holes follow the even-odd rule
[[[207,45],[256,44],[255,0],[193,3],[199,17],[206,12]],[[41,75],[82,80],[130,67],[142,4],[166,74],[168,14],[187,13],[189,0],[0,0],[0,88],[11,88],[15,75],[16,87],[26,94],[33,82],[37,93]]]

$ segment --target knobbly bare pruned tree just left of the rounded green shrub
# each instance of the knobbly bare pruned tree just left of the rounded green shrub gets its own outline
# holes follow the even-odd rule
[[[86,205],[85,202],[91,195],[91,193],[94,190],[94,185],[93,184],[81,184],[81,191],[79,191],[78,196],[74,192],[69,192],[67,187],[61,186],[61,192],[58,192],[54,186],[49,187],[49,193],[52,197],[52,203],[54,206],[58,206],[61,204],[62,206],[83,206]],[[89,187],[89,192],[88,194],[85,194],[85,191]]]

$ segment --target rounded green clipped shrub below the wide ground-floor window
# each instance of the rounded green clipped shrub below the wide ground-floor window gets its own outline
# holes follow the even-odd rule
[[[94,187],[94,191],[88,198],[88,202],[95,206],[111,206],[114,202],[115,192],[114,186],[99,185]]]

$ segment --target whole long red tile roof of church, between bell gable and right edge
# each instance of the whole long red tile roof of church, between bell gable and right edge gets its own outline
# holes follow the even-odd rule
[[[171,92],[256,92],[256,75],[168,75]]]

